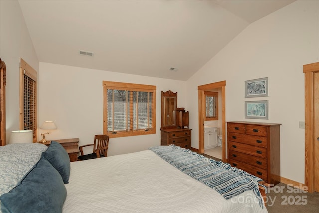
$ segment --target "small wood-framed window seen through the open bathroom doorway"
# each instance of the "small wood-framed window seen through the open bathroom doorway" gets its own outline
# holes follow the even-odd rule
[[[218,120],[218,92],[204,91],[206,116],[205,120]]]

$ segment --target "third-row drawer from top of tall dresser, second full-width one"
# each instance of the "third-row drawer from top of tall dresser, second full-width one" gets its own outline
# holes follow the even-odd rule
[[[267,148],[229,141],[229,149],[237,152],[247,153],[260,158],[267,158]]]

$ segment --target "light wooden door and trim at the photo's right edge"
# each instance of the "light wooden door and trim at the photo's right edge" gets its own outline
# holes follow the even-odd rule
[[[319,62],[303,67],[305,73],[305,185],[319,192]]]

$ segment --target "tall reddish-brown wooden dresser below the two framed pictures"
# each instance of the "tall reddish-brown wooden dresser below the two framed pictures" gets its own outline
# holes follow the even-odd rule
[[[262,178],[280,182],[280,125],[227,122],[228,163]]]

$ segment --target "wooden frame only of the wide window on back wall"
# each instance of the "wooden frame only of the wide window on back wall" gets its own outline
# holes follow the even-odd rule
[[[129,91],[141,91],[141,92],[153,92],[152,102],[152,128],[144,130],[125,130],[125,131],[107,131],[108,130],[108,103],[107,103],[107,90],[129,90]],[[123,82],[103,81],[103,134],[108,135],[110,138],[126,137],[135,135],[147,135],[156,133],[156,86],[144,85],[144,84],[132,84]]]

